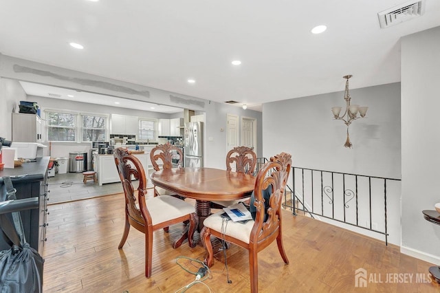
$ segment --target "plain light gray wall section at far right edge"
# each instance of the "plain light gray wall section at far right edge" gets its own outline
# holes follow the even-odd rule
[[[408,254],[432,254],[437,263],[440,226],[423,219],[421,211],[433,210],[440,202],[439,81],[440,27],[405,36],[401,40],[401,243]]]

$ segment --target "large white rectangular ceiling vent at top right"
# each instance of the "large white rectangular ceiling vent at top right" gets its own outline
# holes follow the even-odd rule
[[[421,17],[423,12],[425,12],[425,6],[423,0],[421,0],[402,3],[399,6],[377,13],[377,16],[379,17],[380,27],[388,28],[388,26]]]

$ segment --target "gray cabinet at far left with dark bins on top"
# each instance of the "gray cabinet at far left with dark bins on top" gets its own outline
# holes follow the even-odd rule
[[[12,113],[13,142],[41,142],[41,118],[36,114]]]

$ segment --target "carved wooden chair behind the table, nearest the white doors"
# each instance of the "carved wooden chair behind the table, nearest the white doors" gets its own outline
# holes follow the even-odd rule
[[[256,153],[248,146],[236,146],[226,154],[226,170],[237,173],[254,175],[256,166]],[[211,208],[224,208],[232,206],[237,202],[248,202],[248,199],[213,201],[210,202]]]

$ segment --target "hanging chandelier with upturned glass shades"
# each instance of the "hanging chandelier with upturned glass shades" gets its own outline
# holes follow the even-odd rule
[[[344,93],[344,100],[345,100],[345,110],[344,114],[340,116],[342,107],[332,107],[331,111],[333,112],[333,118],[336,120],[342,120],[344,124],[347,125],[347,140],[345,141],[344,146],[351,148],[353,144],[350,142],[350,135],[349,135],[349,126],[353,120],[359,119],[359,118],[365,118],[366,110],[369,109],[369,107],[360,107],[359,105],[350,105],[350,94],[349,94],[349,79],[352,77],[352,75],[346,75],[344,76],[347,81],[345,82],[345,93]],[[359,116],[358,116],[359,113]]]

